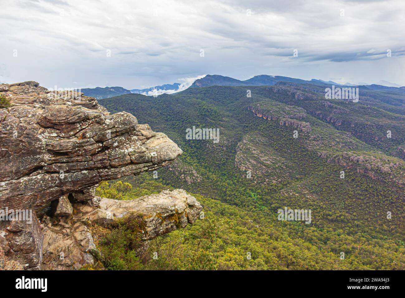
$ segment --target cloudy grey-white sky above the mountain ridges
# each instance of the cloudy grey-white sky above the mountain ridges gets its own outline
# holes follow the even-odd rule
[[[405,86],[403,0],[1,0],[1,9],[3,83],[133,89],[267,74]]]

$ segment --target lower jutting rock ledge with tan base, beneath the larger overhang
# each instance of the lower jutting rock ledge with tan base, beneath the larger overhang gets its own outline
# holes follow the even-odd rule
[[[157,236],[194,223],[202,206],[182,189],[162,191],[138,199],[120,201],[100,198],[100,205],[92,207],[77,203],[71,217],[43,217],[43,261],[45,270],[77,270],[96,263],[98,254],[92,229],[133,215],[141,239]]]

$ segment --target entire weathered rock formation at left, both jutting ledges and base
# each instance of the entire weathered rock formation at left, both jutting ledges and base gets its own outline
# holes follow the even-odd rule
[[[0,210],[34,209],[29,223],[0,222],[0,268],[41,269],[44,263],[47,269],[78,269],[91,264],[95,247],[86,223],[114,220],[99,206],[108,199],[94,197],[98,183],[153,171],[182,151],[131,114],[110,115],[82,93],[50,92],[27,81],[1,84],[0,95],[11,103],[0,109]],[[148,217],[146,232],[156,237],[170,232],[171,222],[174,227],[193,222],[201,210],[194,201],[175,191],[143,197],[127,211]],[[35,210],[44,206],[52,217],[38,219]],[[97,216],[83,218],[92,212]],[[156,214],[164,212],[171,214],[166,225],[155,226],[160,221]],[[74,257],[60,259],[63,249]]]

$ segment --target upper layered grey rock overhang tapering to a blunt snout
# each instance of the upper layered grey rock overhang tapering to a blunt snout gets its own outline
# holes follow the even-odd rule
[[[30,209],[102,180],[152,171],[182,153],[134,116],[110,115],[78,94],[49,93],[36,82],[0,85],[0,208]]]

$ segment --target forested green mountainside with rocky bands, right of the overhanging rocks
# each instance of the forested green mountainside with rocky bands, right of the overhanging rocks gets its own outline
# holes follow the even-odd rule
[[[200,197],[211,217],[231,219],[236,238],[224,233],[209,250],[222,258],[217,268],[403,269],[405,122],[401,109],[393,113],[398,106],[388,98],[395,95],[369,101],[360,93],[353,103],[325,100],[311,84],[291,84],[128,94],[100,104],[136,113],[183,150],[149,183],[181,187]],[[192,126],[218,128],[219,142],[186,139]],[[146,181],[137,179],[143,180],[126,181],[134,187]],[[284,207],[311,209],[312,222],[277,221]],[[188,249],[184,242],[179,254]],[[238,262],[247,250],[256,251],[250,265]]]

